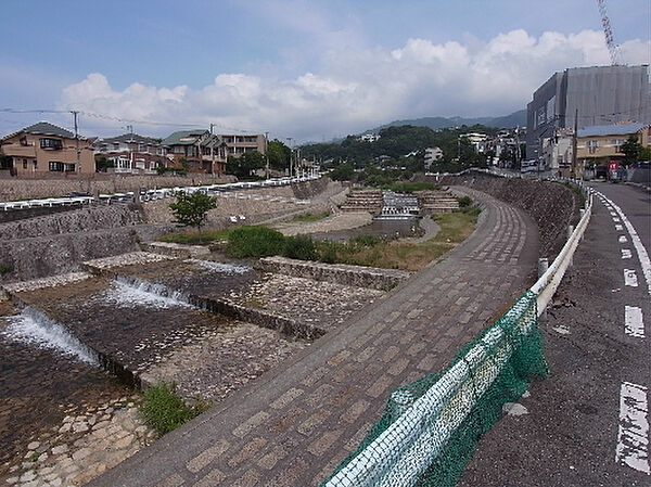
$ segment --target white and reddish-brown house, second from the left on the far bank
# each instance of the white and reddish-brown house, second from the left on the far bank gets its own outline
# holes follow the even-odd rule
[[[158,167],[166,167],[167,148],[161,139],[125,133],[123,136],[98,139],[94,143],[95,158],[106,157],[118,174],[155,174]]]

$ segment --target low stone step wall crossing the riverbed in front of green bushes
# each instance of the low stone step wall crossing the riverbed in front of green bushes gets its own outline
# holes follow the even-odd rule
[[[410,272],[403,270],[322,264],[285,257],[261,258],[256,262],[256,268],[265,272],[276,272],[294,278],[307,278],[378,291],[391,290],[411,275]]]

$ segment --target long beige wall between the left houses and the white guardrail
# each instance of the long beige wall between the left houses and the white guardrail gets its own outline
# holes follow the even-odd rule
[[[137,191],[140,188],[174,188],[194,184],[233,182],[232,176],[116,176],[98,174],[94,179],[0,179],[0,202],[62,196],[73,191],[91,194]],[[290,193],[291,194],[291,193]]]

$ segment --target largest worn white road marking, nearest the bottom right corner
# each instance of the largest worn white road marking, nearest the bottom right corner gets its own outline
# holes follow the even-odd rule
[[[649,469],[649,410],[647,387],[624,382],[620,390],[620,430],[615,462],[639,472]]]

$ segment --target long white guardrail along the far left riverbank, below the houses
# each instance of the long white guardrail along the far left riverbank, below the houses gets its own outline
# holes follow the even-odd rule
[[[229,182],[225,184],[209,184],[209,185],[192,185],[192,187],[175,187],[175,188],[163,188],[157,190],[146,190],[139,194],[139,200],[141,202],[162,200],[165,197],[174,197],[178,192],[186,193],[194,193],[194,192],[203,192],[206,194],[218,194],[226,195],[227,193],[232,193],[237,190],[248,190],[248,189],[259,189],[259,188],[273,188],[288,185],[295,182],[304,182],[310,181],[315,179],[319,179],[320,175],[315,176],[304,176],[304,177],[295,177],[295,178],[273,178],[273,179],[265,179],[264,181],[251,181],[251,182]],[[238,193],[235,193],[238,194]],[[20,209],[29,209],[29,208],[41,208],[41,207],[52,207],[52,206],[69,206],[69,205],[89,205],[95,203],[119,203],[119,202],[132,202],[136,197],[136,193],[133,191],[128,191],[124,193],[111,193],[111,194],[100,194],[98,198],[92,196],[62,196],[62,197],[47,197],[39,200],[25,200],[25,201],[16,201],[16,202],[0,202],[0,210],[10,212],[10,210],[20,210]],[[228,196],[226,196],[228,197]],[[294,201],[292,198],[284,198],[286,201]],[[284,201],[283,200],[283,201]],[[301,202],[301,200],[296,200],[296,202]]]

